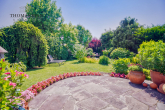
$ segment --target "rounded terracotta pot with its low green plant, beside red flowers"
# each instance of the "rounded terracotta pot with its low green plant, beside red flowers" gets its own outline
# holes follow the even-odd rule
[[[133,65],[128,68],[128,77],[132,83],[142,84],[145,80],[145,74],[143,74],[143,69],[139,65]]]

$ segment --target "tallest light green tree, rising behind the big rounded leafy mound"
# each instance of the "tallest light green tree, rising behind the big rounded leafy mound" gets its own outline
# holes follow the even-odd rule
[[[33,0],[26,5],[27,22],[42,30],[46,35],[56,32],[63,18],[61,9],[57,9],[56,2],[51,0]]]

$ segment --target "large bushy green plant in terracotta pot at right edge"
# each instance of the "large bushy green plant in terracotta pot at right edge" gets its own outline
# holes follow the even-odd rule
[[[165,43],[163,41],[143,42],[138,49],[137,57],[140,64],[150,69],[150,76],[153,83],[165,83]]]

